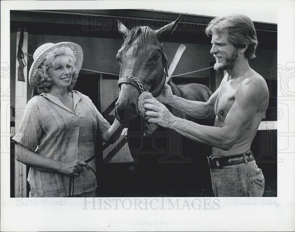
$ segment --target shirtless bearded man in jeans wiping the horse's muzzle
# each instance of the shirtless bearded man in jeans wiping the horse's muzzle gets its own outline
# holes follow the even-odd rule
[[[203,126],[173,116],[156,99],[146,99],[149,122],[169,127],[194,141],[213,146],[209,157],[215,196],[262,196],[264,177],[250,146],[268,106],[266,81],[250,68],[258,44],[251,19],[230,15],[213,19],[205,33],[212,35],[210,51],[214,69],[226,70],[219,88],[207,102],[189,101],[172,94],[165,85],[158,98],[163,104],[188,112],[195,118],[216,116],[214,126]]]

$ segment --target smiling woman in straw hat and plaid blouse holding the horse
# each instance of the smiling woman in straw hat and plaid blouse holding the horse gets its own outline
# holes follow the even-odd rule
[[[95,163],[84,160],[94,155],[96,136],[106,142],[119,122],[110,126],[89,97],[73,91],[83,62],[78,44],[43,44],[33,58],[29,81],[39,95],[28,101],[19,132],[12,138],[17,161],[31,166],[32,196],[68,196],[71,175],[74,196],[95,195],[95,176],[89,172]]]

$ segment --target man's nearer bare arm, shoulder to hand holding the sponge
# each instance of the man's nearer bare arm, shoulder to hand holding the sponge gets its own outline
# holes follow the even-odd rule
[[[194,141],[222,150],[230,150],[253,120],[260,122],[262,119],[262,116],[253,117],[255,112],[259,110],[260,104],[268,99],[268,91],[265,91],[263,86],[265,83],[262,83],[262,81],[264,80],[253,79],[248,84],[247,81],[241,83],[237,89],[235,102],[222,127],[203,126],[186,119],[177,118],[168,110],[166,111],[163,104],[155,102],[155,100],[153,100],[154,105],[147,104],[147,109],[152,109],[155,112],[147,111],[146,115],[155,117],[150,118],[149,122],[172,128]]]

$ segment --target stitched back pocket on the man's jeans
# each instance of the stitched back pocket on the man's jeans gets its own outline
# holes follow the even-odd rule
[[[258,172],[247,172],[247,175],[251,185],[251,195],[261,197],[264,192],[264,176],[261,169]]]

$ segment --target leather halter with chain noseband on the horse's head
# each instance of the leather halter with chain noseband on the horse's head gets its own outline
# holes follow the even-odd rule
[[[162,91],[164,89],[166,77],[168,76],[168,60],[167,60],[167,57],[166,57],[163,50],[162,50],[162,60],[164,61],[165,66],[164,66],[163,78],[160,83],[161,88],[158,92],[156,92],[156,91],[151,92],[153,97],[158,97],[162,93]],[[145,88],[143,87],[143,85],[141,84],[140,80],[135,76],[126,75],[126,76],[121,77],[118,81],[118,87],[120,90],[121,90],[122,83],[127,83],[127,84],[133,85],[136,89],[138,89],[140,91],[140,93],[143,93],[144,91],[146,91]]]

